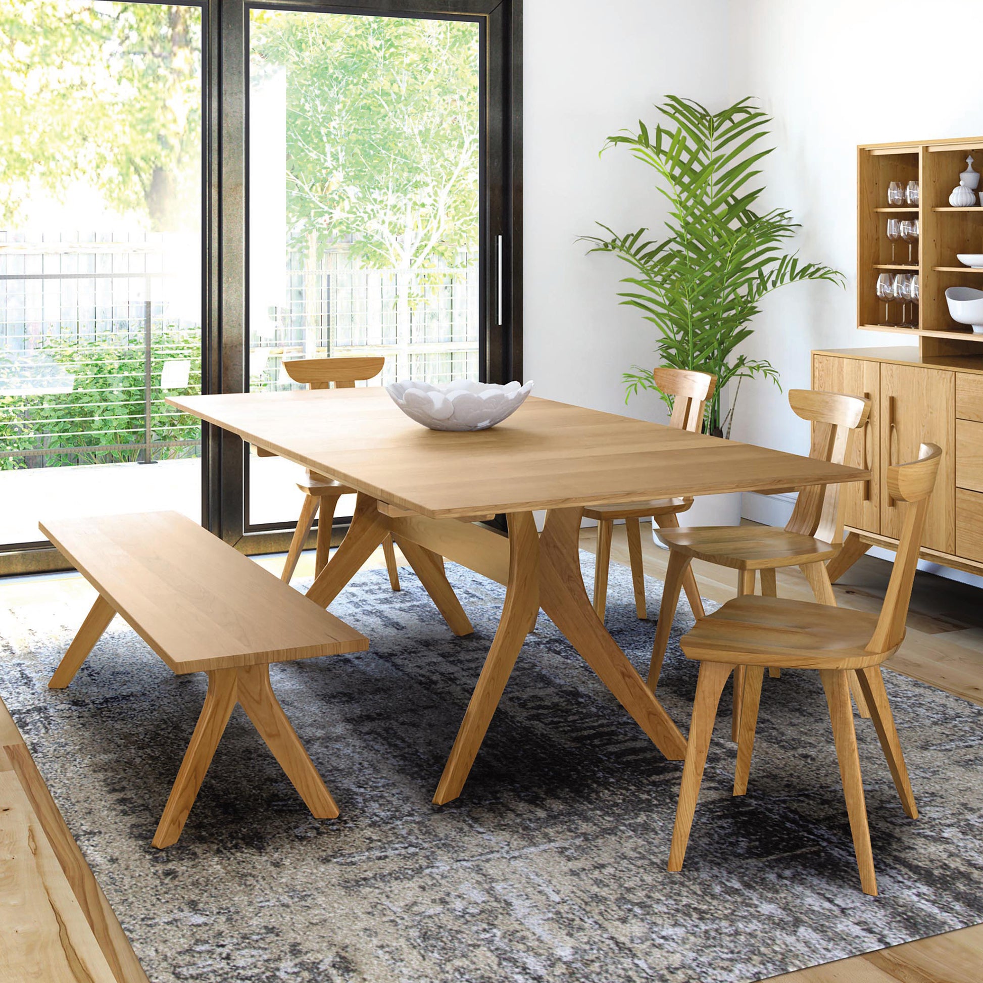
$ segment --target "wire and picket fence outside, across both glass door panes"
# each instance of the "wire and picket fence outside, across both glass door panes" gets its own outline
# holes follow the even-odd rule
[[[164,402],[202,384],[201,291],[175,256],[161,235],[0,231],[0,470],[200,453],[200,422]],[[251,312],[252,389],[289,388],[285,360],[328,355],[384,355],[380,381],[477,377],[468,257],[365,270],[341,249],[291,254],[285,272],[281,303]]]

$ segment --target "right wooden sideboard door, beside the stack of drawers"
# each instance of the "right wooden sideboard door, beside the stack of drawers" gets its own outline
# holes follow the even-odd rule
[[[937,443],[942,464],[922,539],[929,549],[955,552],[955,374],[920,366],[881,364],[881,533],[897,539],[903,508],[884,480],[892,464],[913,461],[918,445]]]

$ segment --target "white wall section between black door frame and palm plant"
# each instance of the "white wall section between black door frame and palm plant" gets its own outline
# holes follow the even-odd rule
[[[658,231],[653,172],[609,134],[656,119],[666,92],[727,93],[726,0],[526,0],[523,13],[525,377],[537,394],[661,419],[653,394],[624,405],[621,374],[655,365],[655,327],[618,307],[622,263],[576,242],[603,221]]]

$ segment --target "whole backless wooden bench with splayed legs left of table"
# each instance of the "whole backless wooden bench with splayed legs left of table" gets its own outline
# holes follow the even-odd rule
[[[39,523],[99,592],[48,685],[67,686],[115,613],[178,674],[207,672],[202,715],[153,845],[181,836],[237,703],[318,819],[338,807],[287,720],[269,664],[364,652],[369,640],[177,512]]]

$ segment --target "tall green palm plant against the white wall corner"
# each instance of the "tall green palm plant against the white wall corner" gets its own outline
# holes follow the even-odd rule
[[[765,189],[751,183],[773,148],[760,145],[771,119],[750,98],[711,113],[692,99],[668,95],[657,108],[672,127],[660,125],[650,134],[639,120],[637,134],[608,137],[602,152],[626,145],[662,178],[657,189],[668,202],[666,238],[646,239],[645,228],[618,235],[599,222],[607,236],[582,239],[594,244],[589,252],[611,253],[632,267],[621,280],[628,289],[618,296],[656,325],[663,364],[718,376],[706,426],[729,435],[741,381],[763,376],[779,384],[771,363],[735,352],[753,334],[750,321],[762,298],[800,280],[842,286],[843,275],[783,252],[798,228],[786,209],[755,210]],[[652,371],[643,367],[633,366],[624,380],[626,401],[640,388],[656,388]],[[722,420],[721,394],[732,380],[737,386]]]

